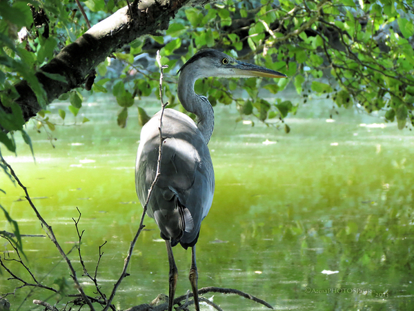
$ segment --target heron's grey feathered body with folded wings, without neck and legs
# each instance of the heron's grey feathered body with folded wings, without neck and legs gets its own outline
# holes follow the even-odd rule
[[[135,182],[143,205],[157,172],[159,117],[160,113],[155,114],[141,130]],[[213,163],[204,137],[190,117],[166,109],[162,124],[161,174],[147,214],[157,221],[161,237],[188,248],[197,242],[201,221],[213,201]]]

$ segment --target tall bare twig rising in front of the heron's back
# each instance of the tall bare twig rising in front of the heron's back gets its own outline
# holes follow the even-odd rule
[[[115,297],[115,293],[117,292],[117,289],[119,287],[119,285],[121,284],[121,281],[124,280],[125,277],[128,277],[128,273],[126,272],[126,270],[128,269],[128,265],[130,263],[130,259],[132,256],[132,251],[134,250],[135,247],[135,243],[137,243],[137,239],[139,237],[139,234],[141,234],[141,231],[145,228],[144,225],[144,218],[145,218],[145,214],[146,214],[146,210],[148,208],[148,203],[151,199],[151,195],[152,195],[152,191],[155,187],[155,184],[157,183],[158,179],[159,179],[159,175],[161,174],[161,157],[162,157],[162,143],[164,141],[164,137],[162,136],[162,117],[164,116],[164,110],[166,108],[166,106],[168,105],[168,103],[164,104],[164,101],[162,99],[162,81],[164,78],[164,68],[167,68],[166,66],[162,66],[161,65],[161,57],[159,55],[159,51],[157,51],[157,62],[159,64],[159,69],[161,71],[161,74],[159,76],[159,97],[161,98],[161,116],[159,118],[159,154],[158,154],[158,161],[157,161],[157,173],[155,174],[155,179],[154,181],[152,181],[151,187],[148,190],[148,196],[146,199],[146,203],[144,205],[144,210],[142,212],[141,215],[141,221],[139,222],[139,228],[137,233],[135,234],[134,239],[132,239],[132,241],[130,242],[130,248],[128,249],[128,254],[126,256],[126,258],[124,259],[124,269],[121,272],[121,276],[119,277],[117,283],[115,283],[114,288],[112,289],[112,292],[110,294],[110,297],[108,299],[108,303],[106,304],[105,308],[103,308],[103,311],[107,311],[109,308],[110,303],[112,303],[112,300]]]

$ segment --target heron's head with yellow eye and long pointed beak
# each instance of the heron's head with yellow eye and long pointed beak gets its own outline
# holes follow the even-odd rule
[[[275,70],[270,70],[253,63],[237,61],[233,57],[213,49],[199,50],[179,70],[181,74],[190,74],[194,79],[204,77],[266,77],[286,78]]]

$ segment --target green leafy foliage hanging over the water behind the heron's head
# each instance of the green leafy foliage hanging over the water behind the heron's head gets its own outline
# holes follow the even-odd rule
[[[93,26],[127,3],[88,0],[80,5]],[[295,114],[299,102],[282,101],[277,96],[266,101],[259,97],[259,90],[277,94],[290,87],[302,95],[303,103],[310,94],[317,94],[333,99],[337,107],[383,111],[386,121],[397,121],[398,128],[411,130],[413,8],[413,0],[228,0],[187,7],[159,36],[139,37],[108,56],[97,67],[91,90],[63,94],[60,99],[70,101],[70,106],[67,111],[59,110],[61,123],[66,113],[78,114],[84,96],[103,93],[113,95],[120,106],[119,126],[126,126],[128,111],[137,107],[139,123],[143,124],[148,114],[140,107],[140,99],[159,97],[155,52],[160,49],[162,62],[168,65],[164,88],[170,107],[174,107],[179,105],[175,97],[177,70],[197,50],[217,48],[288,75],[288,79],[275,81],[197,81],[196,91],[206,95],[213,106],[235,103],[240,114],[237,121],[280,126],[288,113]],[[6,114],[0,109],[0,125],[9,132],[0,132],[0,141],[15,151],[14,131],[21,131],[29,144],[30,137],[21,126],[21,111],[14,103],[14,83],[26,79],[44,106],[34,118],[34,126],[54,130],[57,123],[48,117],[48,103],[34,72],[88,26],[72,0],[1,1],[0,15],[0,99],[12,111]],[[289,132],[289,127],[284,127]]]

